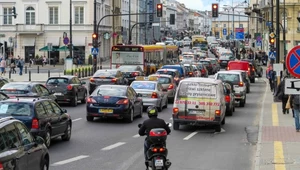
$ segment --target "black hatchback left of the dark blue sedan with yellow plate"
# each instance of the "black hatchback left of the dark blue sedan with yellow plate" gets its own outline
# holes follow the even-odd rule
[[[84,81],[76,76],[49,77],[46,87],[56,96],[58,103],[70,103],[77,106],[78,100],[85,103],[87,89]]]

